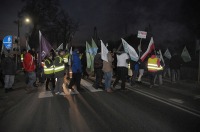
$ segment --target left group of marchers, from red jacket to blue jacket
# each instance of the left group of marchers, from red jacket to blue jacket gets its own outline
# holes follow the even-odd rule
[[[30,56],[32,59],[30,59]],[[81,60],[78,55],[78,50],[74,50],[73,54],[71,56],[72,59],[72,79],[69,83],[68,88],[72,88],[74,84],[76,84],[77,90],[80,89],[80,80],[81,80]],[[46,90],[51,90],[55,94],[61,94],[63,95],[63,83],[64,83],[64,77],[69,77],[69,53],[65,52],[63,50],[59,50],[55,52],[53,49],[50,51],[50,54],[46,55],[44,60],[39,65],[40,68],[43,70],[40,70],[39,78],[45,78],[46,80]],[[30,68],[31,70],[28,70],[29,66],[32,66]],[[36,65],[34,63],[34,57],[29,52],[24,55],[23,59],[23,67],[25,74],[27,75],[26,78],[29,80],[27,83],[27,91],[32,91],[34,89],[34,82],[36,81],[36,74],[35,74],[35,68]],[[34,74],[34,75],[33,75]],[[67,76],[66,76],[67,75]],[[49,83],[52,83],[52,87],[49,87]]]

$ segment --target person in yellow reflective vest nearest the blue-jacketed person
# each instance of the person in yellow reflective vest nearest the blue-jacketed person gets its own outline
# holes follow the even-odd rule
[[[57,78],[55,94],[63,94],[62,85],[64,83],[64,74],[65,74],[65,65],[64,65],[64,56],[65,52],[63,50],[58,51],[58,55],[54,60],[54,74]]]

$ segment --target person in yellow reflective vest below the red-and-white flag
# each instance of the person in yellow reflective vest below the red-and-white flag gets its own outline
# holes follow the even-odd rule
[[[148,59],[147,68],[150,77],[150,88],[155,84],[155,77],[158,75],[158,71],[163,70],[163,67],[160,65],[160,59],[156,55],[151,55]]]

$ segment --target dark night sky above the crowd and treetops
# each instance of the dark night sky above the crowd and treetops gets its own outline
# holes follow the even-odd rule
[[[91,40],[94,26],[103,41],[116,40],[128,34],[136,34],[151,24],[154,40],[178,40],[189,37],[189,31],[180,23],[183,17],[183,0],[61,0],[62,7],[80,23],[73,43],[85,44]],[[20,0],[1,1],[0,38],[17,35],[13,21],[21,9]],[[23,34],[22,34],[23,35]]]

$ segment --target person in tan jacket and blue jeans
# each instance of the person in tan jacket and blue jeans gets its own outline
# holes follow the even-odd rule
[[[108,52],[107,54],[108,57],[108,62],[107,61],[103,61],[103,72],[104,72],[104,79],[105,79],[105,90],[107,92],[113,92],[111,90],[111,80],[112,80],[112,75],[113,75],[113,67],[112,67],[112,62],[113,62],[113,58],[110,52]]]

